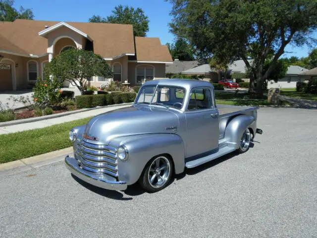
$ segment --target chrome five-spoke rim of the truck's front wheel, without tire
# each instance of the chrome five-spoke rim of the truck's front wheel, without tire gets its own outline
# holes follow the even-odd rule
[[[159,156],[150,165],[148,173],[149,183],[154,188],[163,186],[169,179],[170,162],[164,156]]]

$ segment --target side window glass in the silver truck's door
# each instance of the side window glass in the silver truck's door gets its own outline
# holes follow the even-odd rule
[[[210,89],[194,89],[191,92],[188,110],[202,110],[212,108],[212,97]]]

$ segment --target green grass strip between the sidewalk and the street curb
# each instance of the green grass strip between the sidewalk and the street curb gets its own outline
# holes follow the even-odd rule
[[[72,145],[68,139],[69,130],[74,126],[86,124],[89,119],[91,118],[1,135],[0,163],[67,148]]]

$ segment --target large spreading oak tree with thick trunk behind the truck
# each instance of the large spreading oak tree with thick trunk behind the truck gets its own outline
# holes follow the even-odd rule
[[[313,43],[317,0],[170,0],[171,32],[219,60],[242,59],[250,72],[250,92],[262,84],[288,44]],[[272,55],[264,70],[265,60]],[[252,56],[250,64],[248,56]]]

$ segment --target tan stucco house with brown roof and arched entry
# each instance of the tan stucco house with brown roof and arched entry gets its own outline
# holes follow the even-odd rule
[[[44,77],[49,61],[71,47],[93,51],[112,67],[113,78],[96,75],[94,86],[164,78],[165,64],[173,63],[159,38],[134,37],[132,25],[17,19],[0,23],[0,91],[30,87]]]

